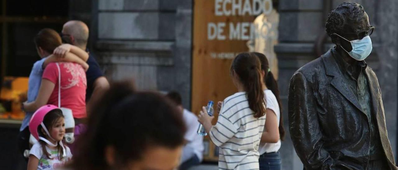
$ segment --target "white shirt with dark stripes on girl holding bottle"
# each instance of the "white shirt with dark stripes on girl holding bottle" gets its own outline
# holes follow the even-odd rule
[[[219,169],[259,169],[258,147],[264,129],[265,115],[254,118],[245,92],[227,97],[210,138],[220,147]]]

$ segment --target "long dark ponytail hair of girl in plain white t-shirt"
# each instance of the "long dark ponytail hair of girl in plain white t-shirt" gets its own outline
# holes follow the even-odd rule
[[[263,78],[265,86],[267,86],[267,88],[272,91],[272,93],[276,97],[276,100],[278,100],[279,112],[280,112],[280,114],[279,114],[279,137],[283,141],[283,139],[285,139],[285,128],[283,127],[283,114],[282,114],[283,109],[282,109],[281,97],[279,96],[278,83],[275,80],[275,77],[273,76],[272,72],[269,71],[269,63],[268,63],[267,57],[265,57],[264,54],[259,53],[259,52],[253,52],[253,54],[259,58],[259,60],[261,62],[261,70],[263,70],[265,72],[265,75]]]

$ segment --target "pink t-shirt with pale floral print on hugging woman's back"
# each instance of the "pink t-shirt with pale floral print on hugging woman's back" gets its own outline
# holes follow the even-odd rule
[[[74,118],[86,117],[86,72],[79,64],[60,62],[61,71],[61,107],[69,108]],[[47,104],[58,106],[58,68],[56,63],[47,65],[43,72],[43,79],[55,84],[53,93]]]

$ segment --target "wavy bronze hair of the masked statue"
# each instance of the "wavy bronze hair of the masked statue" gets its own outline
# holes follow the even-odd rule
[[[343,2],[328,14],[326,20],[326,33],[330,36],[333,33],[343,32],[347,19],[356,20],[365,13],[363,6],[353,2]]]

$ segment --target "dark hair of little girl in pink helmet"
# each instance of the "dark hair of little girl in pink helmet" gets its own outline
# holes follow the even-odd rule
[[[46,127],[46,129],[49,131],[49,133],[51,133],[51,129],[53,129],[54,124],[57,123],[57,121],[63,117],[64,117],[64,115],[62,114],[62,111],[59,109],[51,110],[50,112],[48,112],[46,114],[46,116],[44,116],[43,124]],[[43,133],[43,131],[44,131],[43,127],[41,127],[41,126],[37,127],[37,132],[39,133],[39,136],[46,138],[47,134],[45,135],[45,133]],[[47,149],[46,149],[47,143],[42,140],[39,140],[39,143],[40,143],[41,149],[43,151],[43,154],[45,156],[47,156],[47,158],[50,158],[51,154],[48,153]],[[62,160],[64,158],[64,156],[63,156],[64,150],[62,149],[62,146],[59,144],[59,142],[57,145],[57,150],[58,150],[58,159]]]

